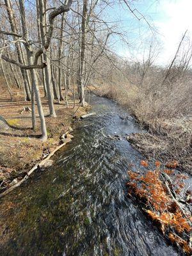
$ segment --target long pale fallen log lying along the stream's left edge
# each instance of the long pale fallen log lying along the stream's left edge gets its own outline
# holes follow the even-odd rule
[[[57,148],[55,148],[50,154],[49,156],[47,156],[45,159],[43,159],[42,161],[40,161],[39,163],[36,163],[35,166],[33,166],[33,168],[31,170],[29,170],[29,172],[27,172],[27,174],[16,184],[14,184],[12,187],[6,189],[6,191],[4,191],[3,193],[0,194],[0,198],[3,197],[4,195],[10,193],[11,191],[13,191],[13,189],[17,188],[20,186],[20,184],[22,184],[24,181],[26,181],[29,176],[31,175],[31,173],[33,173],[38,167],[41,167],[45,164],[45,162],[47,162],[47,160],[52,157],[54,155],[54,153],[56,151],[58,151],[61,147],[65,146],[66,143],[61,144],[60,146],[58,146]]]

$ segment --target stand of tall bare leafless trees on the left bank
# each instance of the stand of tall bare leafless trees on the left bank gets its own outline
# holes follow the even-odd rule
[[[31,101],[33,130],[36,129],[35,104],[41,126],[41,140],[47,131],[39,88],[49,104],[49,116],[56,117],[54,104],[68,106],[68,92],[85,104],[85,93],[97,74],[97,63],[106,58],[108,23],[100,20],[107,3],[98,1],[2,1],[1,3],[1,66],[6,88],[24,90]],[[70,10],[71,8],[71,10]],[[70,12],[69,12],[70,11]],[[70,13],[70,14],[68,14]],[[7,19],[8,18],[8,19]],[[104,31],[109,31],[104,36]],[[4,69],[6,68],[6,72]],[[13,80],[9,81],[8,76]],[[75,103],[74,103],[75,104]]]

